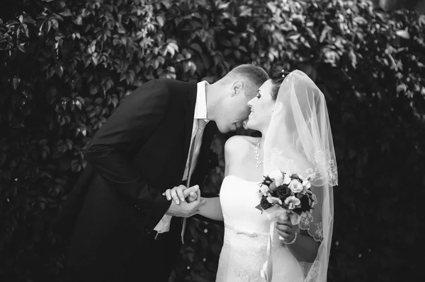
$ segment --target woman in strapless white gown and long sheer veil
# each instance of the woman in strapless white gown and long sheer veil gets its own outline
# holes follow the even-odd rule
[[[216,281],[326,281],[337,170],[324,95],[302,71],[284,72],[263,83],[248,105],[246,127],[261,138],[227,140],[220,197],[205,198],[199,210],[225,223]],[[273,223],[255,208],[263,175],[276,169],[310,177],[317,204],[298,225],[287,216]],[[178,193],[169,189],[166,196]]]

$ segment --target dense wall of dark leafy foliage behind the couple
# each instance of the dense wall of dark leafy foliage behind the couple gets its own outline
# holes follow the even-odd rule
[[[84,168],[84,146],[126,95],[152,78],[214,82],[247,62],[302,69],[326,95],[340,177],[329,281],[419,278],[424,16],[341,0],[9,2],[0,281],[60,281],[67,242],[50,223]],[[217,133],[205,192],[219,191],[231,135]],[[222,226],[194,219],[189,228],[170,280],[214,281]]]

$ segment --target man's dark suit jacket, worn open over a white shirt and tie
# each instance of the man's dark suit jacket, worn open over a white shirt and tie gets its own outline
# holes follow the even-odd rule
[[[55,223],[57,230],[74,229],[68,254],[74,271],[108,272],[148,242],[147,233],[170,206],[162,193],[183,178],[196,90],[196,81],[149,81],[125,98],[89,142],[89,165]],[[216,129],[214,122],[205,128],[191,185],[208,174]],[[170,233],[179,236],[175,229]]]

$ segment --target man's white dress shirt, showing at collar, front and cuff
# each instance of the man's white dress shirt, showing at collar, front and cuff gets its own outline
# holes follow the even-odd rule
[[[193,141],[195,141],[196,136],[196,128],[198,125],[198,119],[204,119],[206,122],[208,122],[207,119],[207,97],[205,93],[205,86],[208,82],[207,81],[201,81],[197,85],[197,91],[196,91],[196,104],[195,104],[195,112],[193,114],[193,127],[192,127],[192,136],[191,136],[191,145],[189,148],[191,148]],[[202,134],[199,137],[202,140]],[[191,173],[196,167],[196,163],[198,160],[198,155],[200,151],[200,144],[201,141],[198,142],[198,146],[193,149],[193,157],[192,157],[192,164],[191,164]],[[191,150],[189,150],[190,153]],[[190,155],[188,155],[188,158],[186,160],[186,166],[184,168],[183,178],[182,181],[188,180],[188,169],[189,169],[189,158]],[[164,233],[170,230],[170,223],[171,223],[172,216],[169,216],[167,214],[164,214],[164,216],[161,218],[161,221],[155,226],[154,230],[157,230],[158,233]]]

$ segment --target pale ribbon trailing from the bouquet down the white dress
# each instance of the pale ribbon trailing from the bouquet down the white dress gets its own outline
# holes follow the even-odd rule
[[[278,209],[276,208],[275,211],[271,211],[271,212],[264,211],[264,213],[266,213],[266,217],[269,220],[271,220],[271,223],[270,223],[270,229],[268,232],[267,260],[263,264],[263,266],[261,266],[260,268],[260,276],[261,278],[264,279],[264,281],[271,282],[271,279],[273,276],[273,255],[271,252],[271,248],[273,246],[273,234],[274,234],[274,230],[276,226],[276,218],[280,218],[280,216],[285,216],[290,218],[290,222],[293,225],[297,225],[298,223],[300,223],[301,217],[297,215],[297,213],[286,211],[284,208],[278,208]],[[285,219],[283,218],[283,220]],[[279,240],[285,241],[283,237],[280,237],[280,235],[279,235]]]

